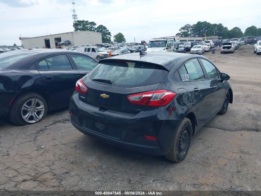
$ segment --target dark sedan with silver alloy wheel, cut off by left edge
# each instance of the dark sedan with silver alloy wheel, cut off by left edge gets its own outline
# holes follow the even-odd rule
[[[69,50],[0,54],[0,116],[17,125],[43,120],[47,111],[69,105],[76,81],[96,65],[92,57]]]

